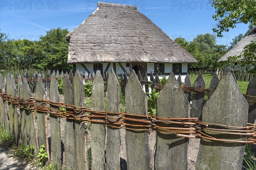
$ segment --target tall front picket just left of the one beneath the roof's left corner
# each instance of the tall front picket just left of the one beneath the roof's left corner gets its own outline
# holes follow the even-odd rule
[[[58,72],[58,70],[57,70]],[[56,77],[57,74],[56,74]],[[52,102],[60,102],[60,94],[58,92],[58,87],[56,84],[55,74],[52,73],[52,81],[50,88],[50,100]],[[58,106],[50,105],[52,112],[59,111]],[[60,117],[50,114],[51,121],[51,138],[50,138],[50,160],[51,164],[56,164],[61,166],[61,125]]]

